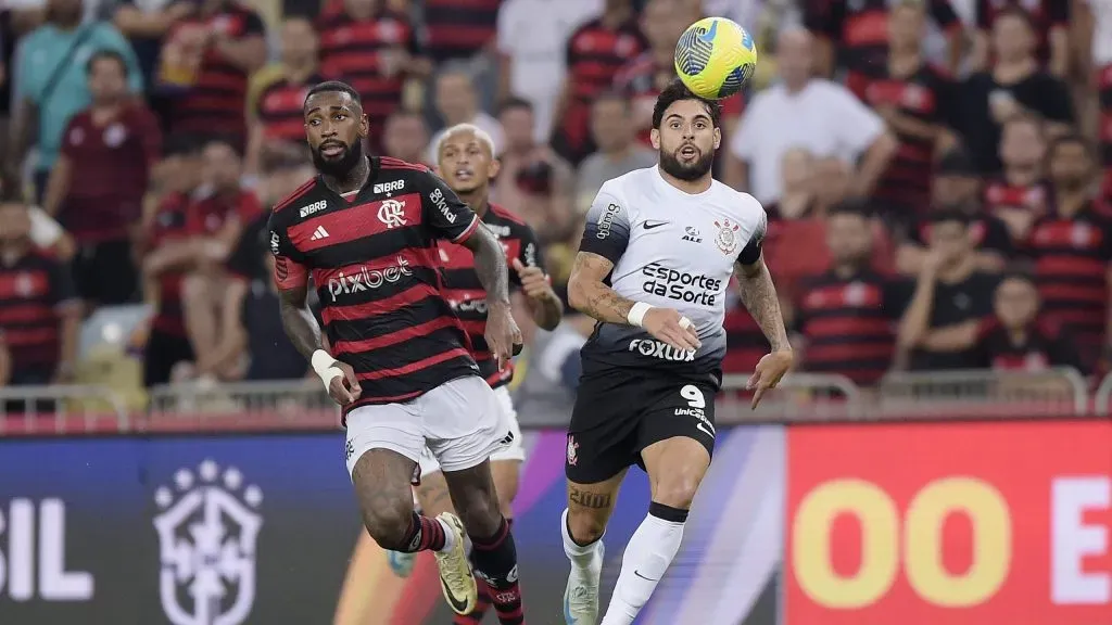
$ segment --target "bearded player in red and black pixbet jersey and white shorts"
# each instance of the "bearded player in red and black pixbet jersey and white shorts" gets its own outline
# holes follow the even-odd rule
[[[448,239],[475,255],[486,340],[499,361],[522,340],[505,252],[428,168],[363,153],[368,121],[350,86],[314,87],[305,127],[320,175],[270,216],[275,280],[287,335],[344,407],[347,466],[367,530],[386,549],[433,550],[445,598],[468,614],[477,591],[466,526],[499,619],[524,623],[517,553],[488,462],[514,434],[440,290],[437,245]],[[310,275],[331,354],[306,306]],[[426,446],[463,523],[414,510],[410,480]]]

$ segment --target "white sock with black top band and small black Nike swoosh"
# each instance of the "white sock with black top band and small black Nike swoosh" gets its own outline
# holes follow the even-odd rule
[[[654,515],[657,507],[664,508],[664,516],[677,520],[665,520]],[[685,510],[656,504],[649,508],[648,516],[634,532],[622,555],[622,573],[602,625],[631,625],[637,617],[679,550],[686,517]]]

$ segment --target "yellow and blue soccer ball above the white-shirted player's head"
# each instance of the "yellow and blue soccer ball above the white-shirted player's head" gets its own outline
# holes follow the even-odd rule
[[[676,73],[699,98],[721,100],[737,93],[756,68],[753,38],[725,18],[691,24],[676,43]]]

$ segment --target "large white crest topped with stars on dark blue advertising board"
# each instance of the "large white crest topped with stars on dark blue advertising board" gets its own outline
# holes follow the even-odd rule
[[[205,460],[155,492],[162,612],[173,625],[240,625],[255,603],[258,486]]]

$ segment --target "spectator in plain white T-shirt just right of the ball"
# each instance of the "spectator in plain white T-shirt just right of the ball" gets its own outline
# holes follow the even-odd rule
[[[814,41],[803,29],[777,42],[781,82],[753,99],[729,142],[725,180],[762,202],[780,199],[784,153],[802,148],[816,158],[860,163],[851,195],[868,197],[895,153],[884,120],[841,85],[813,78]]]

